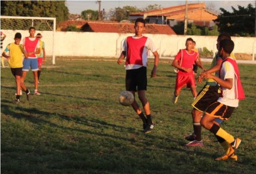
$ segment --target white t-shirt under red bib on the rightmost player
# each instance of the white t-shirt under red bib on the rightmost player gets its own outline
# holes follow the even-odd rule
[[[221,87],[222,97],[218,98],[218,102],[225,104],[227,106],[238,107],[239,99],[235,99],[235,85],[236,85],[235,70],[233,65],[228,61],[224,62],[221,66],[221,79],[225,80],[227,78],[233,79],[233,86],[230,90],[227,88]]]

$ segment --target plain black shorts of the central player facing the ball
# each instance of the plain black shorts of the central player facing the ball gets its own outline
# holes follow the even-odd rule
[[[126,70],[125,88],[128,91],[147,90],[147,67]]]

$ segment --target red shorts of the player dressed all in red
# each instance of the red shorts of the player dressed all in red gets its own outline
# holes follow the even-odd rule
[[[189,74],[189,75],[177,74],[175,90],[180,89],[185,85],[187,88],[196,86],[194,74]]]

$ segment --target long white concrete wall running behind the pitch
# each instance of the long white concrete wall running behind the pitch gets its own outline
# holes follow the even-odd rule
[[[23,37],[29,36],[28,31],[3,30],[7,37],[3,42],[5,48],[8,43],[13,42],[16,32],[20,32]],[[43,35],[42,41],[46,44],[46,54],[52,55],[52,32],[38,31]],[[36,33],[38,33],[36,32]],[[119,56],[124,39],[132,33],[93,33],[93,32],[56,32],[55,33],[55,55],[56,56]],[[156,35],[145,34],[152,39],[161,56],[175,56],[179,49],[185,48],[186,38],[193,38],[197,47],[207,47],[208,50],[217,52],[217,36],[183,36],[183,35]],[[234,53],[252,54],[253,37],[232,37],[235,43]],[[256,50],[256,44],[254,44]]]

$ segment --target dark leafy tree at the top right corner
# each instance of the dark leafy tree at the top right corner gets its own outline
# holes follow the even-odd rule
[[[255,8],[248,4],[247,8],[238,6],[238,10],[232,7],[233,12],[220,8],[221,14],[215,20],[221,33],[229,33],[233,36],[255,36]]]

